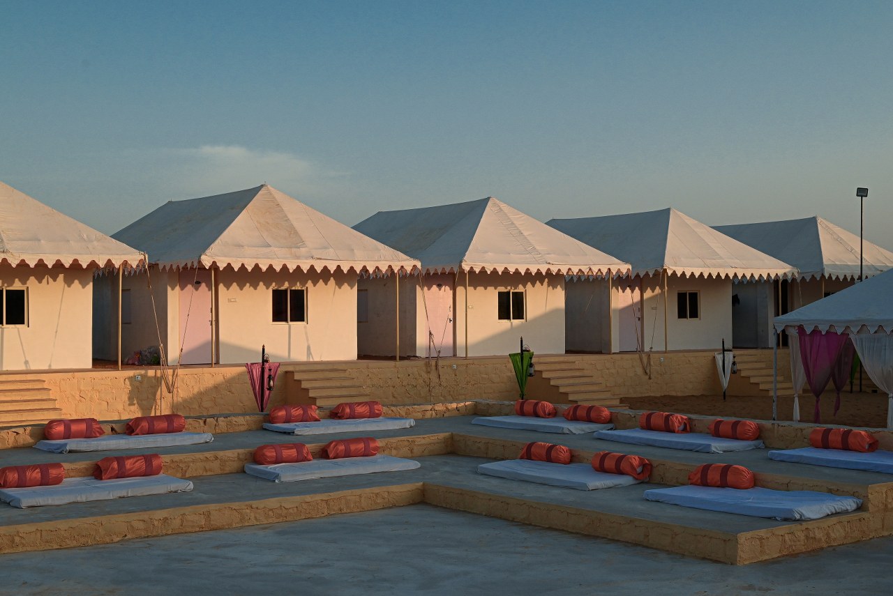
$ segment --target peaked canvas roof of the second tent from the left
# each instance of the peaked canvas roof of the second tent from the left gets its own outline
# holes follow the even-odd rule
[[[417,269],[419,262],[262,185],[171,201],[114,235],[162,269]]]

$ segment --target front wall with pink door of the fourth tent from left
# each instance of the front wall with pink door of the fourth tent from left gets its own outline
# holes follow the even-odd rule
[[[647,352],[667,350],[714,350],[732,344],[731,280],[705,279],[703,277],[679,277],[671,275],[666,280],[666,331],[668,342],[664,344],[663,279],[646,276],[642,279],[643,327]],[[699,317],[680,319],[677,310],[680,292],[697,292]]]

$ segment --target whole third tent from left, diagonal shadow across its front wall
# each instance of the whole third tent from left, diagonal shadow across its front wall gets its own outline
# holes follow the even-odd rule
[[[381,211],[354,228],[421,261],[408,297],[417,355],[505,354],[521,335],[535,351],[563,353],[564,276],[630,269],[493,197]],[[506,313],[509,297],[518,302]]]

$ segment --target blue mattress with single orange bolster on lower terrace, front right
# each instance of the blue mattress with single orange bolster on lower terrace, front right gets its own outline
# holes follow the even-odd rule
[[[769,517],[780,521],[819,519],[835,513],[855,511],[862,500],[814,491],[773,491],[768,488],[716,488],[714,486],[674,486],[642,493],[648,501],[660,501],[682,507],[737,513],[751,517]]]

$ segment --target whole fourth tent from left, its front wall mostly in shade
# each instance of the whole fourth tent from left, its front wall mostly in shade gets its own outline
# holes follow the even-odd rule
[[[547,223],[630,262],[634,279],[612,296],[621,325],[614,348],[621,351],[654,344],[664,350],[717,348],[723,337],[730,343],[732,281],[796,274],[789,264],[675,209]],[[646,320],[649,312],[654,316]]]

